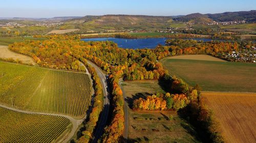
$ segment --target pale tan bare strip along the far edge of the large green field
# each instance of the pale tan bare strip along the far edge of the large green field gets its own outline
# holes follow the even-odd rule
[[[225,60],[216,58],[214,56],[210,56],[207,54],[191,54],[191,55],[178,55],[171,56],[167,59],[184,59],[184,60],[203,60],[203,61],[219,61],[219,62],[227,62]]]

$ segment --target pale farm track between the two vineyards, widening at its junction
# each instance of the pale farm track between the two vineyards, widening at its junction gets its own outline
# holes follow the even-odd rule
[[[78,126],[86,119],[86,116],[83,119],[74,119],[72,117],[66,116],[66,115],[59,115],[59,114],[54,114],[54,113],[43,113],[43,112],[33,112],[33,111],[27,111],[27,110],[20,110],[20,109],[16,109],[13,107],[9,107],[9,106],[5,106],[5,105],[0,105],[0,107],[6,108],[6,109],[10,109],[16,112],[22,112],[22,113],[29,113],[29,114],[40,114],[40,115],[51,115],[51,116],[60,116],[60,117],[65,117],[67,119],[70,120],[70,122],[72,123],[72,129],[69,133],[68,136],[66,136],[65,138],[58,140],[58,142],[68,142],[73,135],[76,132],[76,129],[78,128]]]

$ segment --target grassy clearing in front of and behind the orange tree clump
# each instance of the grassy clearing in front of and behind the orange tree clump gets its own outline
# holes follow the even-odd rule
[[[121,83],[125,102],[163,92],[157,80],[124,81]],[[129,110],[128,142],[200,142],[197,133],[174,111]]]

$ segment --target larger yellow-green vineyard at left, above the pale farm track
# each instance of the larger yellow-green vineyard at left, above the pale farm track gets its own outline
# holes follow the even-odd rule
[[[88,74],[0,62],[0,102],[16,108],[82,118],[91,104]]]

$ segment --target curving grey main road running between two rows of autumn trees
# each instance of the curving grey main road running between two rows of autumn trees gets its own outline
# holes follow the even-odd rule
[[[107,82],[106,82],[106,76],[105,74],[101,71],[101,69],[96,66],[94,63],[87,61],[88,64],[90,64],[91,66],[93,66],[100,78],[100,82],[103,88],[103,94],[104,94],[104,106],[103,106],[103,110],[102,110],[102,114],[99,120],[99,124],[98,127],[94,133],[94,137],[92,142],[96,143],[98,141],[98,139],[100,138],[100,136],[103,133],[105,124],[106,124],[106,120],[108,119],[108,115],[109,115],[109,107],[110,107],[110,100],[109,100],[109,92],[108,92],[108,87],[106,87]]]

